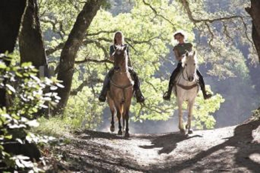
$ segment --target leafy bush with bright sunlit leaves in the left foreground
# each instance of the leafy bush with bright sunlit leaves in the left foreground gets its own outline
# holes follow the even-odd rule
[[[0,82],[1,89],[5,89],[7,97],[12,97],[10,107],[0,108],[0,162],[1,169],[32,169],[38,172],[37,164],[31,162],[29,157],[13,155],[5,150],[9,144],[47,143],[49,137],[41,137],[29,132],[31,127],[38,126],[36,115],[46,108],[46,104],[54,106],[59,98],[52,92],[60,84],[54,78],[40,80],[37,70],[31,63],[21,66],[6,66],[11,55],[0,55]],[[50,92],[45,88],[49,87]]]

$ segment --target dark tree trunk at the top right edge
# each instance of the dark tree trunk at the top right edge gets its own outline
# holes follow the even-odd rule
[[[260,62],[260,1],[251,0],[251,7],[245,8],[246,12],[252,17],[252,39],[257,50],[258,59]]]

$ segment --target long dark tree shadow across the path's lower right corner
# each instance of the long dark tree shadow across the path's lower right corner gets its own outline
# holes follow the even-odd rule
[[[260,154],[260,144],[253,142],[252,137],[252,131],[257,129],[258,126],[260,126],[260,120],[258,121],[251,121],[244,124],[241,124],[237,126],[234,130],[234,136],[228,138],[227,141],[225,141],[222,144],[216,145],[207,151],[203,151],[198,153],[196,156],[194,156],[192,159],[185,160],[179,164],[176,164],[172,167],[169,167],[167,169],[153,169],[152,172],[158,172],[158,171],[166,171],[166,172],[177,172],[182,171],[183,169],[186,169],[197,162],[201,161],[203,158],[211,155],[214,152],[217,152],[220,149],[224,149],[227,146],[233,146],[238,148],[238,152],[235,153],[235,164],[237,164],[239,167],[246,167],[248,170],[252,172],[259,172],[260,170],[260,164],[251,160],[250,155],[251,154]],[[176,142],[177,143],[177,142]],[[246,149],[244,149],[246,144]],[[196,168],[200,169],[201,168]],[[198,170],[193,170],[198,171]]]

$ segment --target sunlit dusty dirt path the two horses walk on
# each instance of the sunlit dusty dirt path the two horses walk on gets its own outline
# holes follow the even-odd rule
[[[131,134],[84,131],[57,149],[59,167],[80,172],[258,172],[260,121],[215,130]]]

